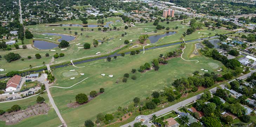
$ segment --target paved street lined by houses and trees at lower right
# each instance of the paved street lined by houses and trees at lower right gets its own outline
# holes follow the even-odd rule
[[[250,70],[250,71],[251,71],[250,73],[245,74],[245,75],[242,75],[242,76],[238,77],[237,79],[244,80],[244,79],[246,79],[247,77],[251,76],[252,73],[256,72],[256,70]],[[235,79],[234,79],[234,80],[235,80]],[[234,80],[231,80],[231,81],[234,81]],[[229,81],[229,82],[231,82],[231,81]],[[220,85],[220,87],[224,88],[224,85]],[[217,90],[217,87],[210,89],[211,94],[212,94],[212,93],[215,93],[216,90]],[[203,93],[202,93],[202,94],[203,94]],[[193,96],[193,97],[188,98],[188,99],[186,99],[186,100],[183,100],[182,102],[179,102],[179,103],[176,103],[176,104],[174,104],[174,105],[172,105],[172,106],[166,107],[165,109],[159,110],[159,111],[154,112],[154,113],[152,113],[152,114],[150,114],[150,115],[140,115],[140,116],[142,117],[141,119],[144,119],[144,120],[145,120],[145,122],[144,122],[143,124],[144,124],[144,125],[147,125],[148,127],[150,127],[152,124],[151,124],[149,121],[150,121],[151,116],[152,116],[153,114],[155,114],[157,117],[159,117],[160,115],[163,115],[163,114],[165,114],[165,113],[168,113],[168,112],[170,112],[170,111],[172,111],[172,110],[176,111],[176,110],[178,110],[179,107],[185,106],[185,105],[187,105],[187,104],[189,104],[189,103],[191,103],[191,102],[196,102],[196,100],[198,100],[198,99],[201,97],[202,94]],[[133,126],[133,124],[134,124],[135,122],[140,122],[140,119],[139,119],[139,120],[135,119],[134,121],[132,121],[132,122],[130,122],[130,123],[128,123],[128,124],[125,124],[125,125],[123,125],[123,126],[121,126],[121,127],[128,127],[129,125],[130,125],[130,126]]]

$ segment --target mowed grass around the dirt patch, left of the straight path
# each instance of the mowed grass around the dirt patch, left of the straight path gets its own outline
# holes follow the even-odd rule
[[[46,92],[40,96],[44,97],[46,104],[51,106]],[[29,105],[36,104],[37,97],[38,96],[23,100],[17,100],[14,102],[0,103],[0,109],[7,110],[13,105],[18,104],[21,107],[21,110],[23,110],[26,109]],[[29,117],[15,125],[5,125],[5,121],[0,121],[0,127],[57,127],[59,125],[61,125],[61,122],[52,107],[45,115],[36,115],[33,117]]]

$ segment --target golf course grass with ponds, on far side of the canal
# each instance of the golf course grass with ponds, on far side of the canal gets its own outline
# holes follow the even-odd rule
[[[117,20],[120,20],[121,22],[116,22]],[[8,63],[4,58],[0,59],[0,68],[5,69],[5,71],[0,72],[0,74],[5,74],[7,72],[13,71],[13,70],[27,70],[30,69],[29,65],[32,66],[32,68],[38,68],[38,67],[43,67],[45,66],[42,64],[45,62],[46,64],[50,63],[51,65],[54,64],[59,64],[63,62],[69,62],[72,59],[79,59],[83,57],[90,57],[92,55],[95,55],[97,52],[100,52],[101,55],[106,55],[110,54],[124,46],[124,40],[132,40],[131,43],[135,43],[138,37],[142,34],[149,34],[150,36],[156,35],[156,34],[162,34],[166,32],[165,29],[163,30],[158,30],[157,33],[152,32],[155,30],[156,26],[152,25],[153,23],[138,23],[135,24],[136,27],[130,27],[127,30],[124,29],[124,24],[122,22],[122,18],[120,17],[109,17],[109,18],[104,18],[104,23],[106,22],[114,22],[111,24],[111,28],[117,27],[120,30],[112,30],[112,31],[98,31],[98,28],[84,28],[83,31],[81,31],[82,27],[76,27],[76,26],[68,26],[68,27],[61,27],[61,26],[53,26],[53,27],[47,27],[47,24],[37,24],[37,25],[29,25],[26,26],[26,29],[29,29],[33,35],[34,38],[37,39],[44,39],[45,41],[48,42],[56,42],[60,37],[59,36],[49,36],[49,35],[44,35],[44,32],[50,32],[50,33],[62,33],[66,35],[72,35],[76,36],[76,39],[72,40],[70,43],[72,43],[69,47],[67,47],[66,50],[61,50],[61,48],[54,48],[56,51],[51,51],[51,50],[38,50],[33,47],[33,39],[25,39],[24,44],[31,44],[31,48],[27,49],[19,49],[19,50],[11,50],[11,51],[4,51],[1,52],[1,56],[4,56],[5,54],[8,54],[10,52],[15,52],[21,55],[21,58],[24,59],[24,61],[16,60]],[[72,21],[64,21],[64,22],[58,22],[60,24],[81,24],[82,21],[80,20],[72,20]],[[54,23],[56,24],[56,23]],[[97,24],[97,20],[88,20],[88,24]],[[180,37],[182,37],[183,32],[186,31],[186,29],[189,28],[189,25],[186,24],[180,24],[178,21],[171,22],[169,24],[166,24],[166,22],[160,22],[159,24],[165,26],[165,27],[170,27],[171,31],[177,31],[176,34],[171,35],[171,36],[166,36],[163,37],[162,39],[159,39],[158,42],[151,44],[151,45],[162,45],[162,44],[167,44],[167,43],[174,43],[177,41],[180,41]],[[178,29],[172,29],[178,26]],[[66,28],[67,30],[64,30]],[[68,30],[68,28],[71,28],[71,30]],[[53,30],[54,29],[54,30]],[[93,31],[91,30],[93,29]],[[71,31],[71,33],[70,33]],[[220,30],[216,29],[216,33],[227,33],[229,31],[227,30]],[[74,34],[74,32],[78,32],[77,35]],[[200,34],[198,32],[201,32]],[[198,30],[191,35],[186,36],[184,39],[185,40],[191,40],[191,39],[197,39],[204,34],[212,33],[211,36],[215,35],[214,31],[208,30],[206,28],[202,30]],[[81,35],[82,33],[82,35]],[[126,33],[124,37],[121,35]],[[99,44],[97,47],[93,47],[92,45],[92,40],[93,39],[107,39],[111,38],[110,40],[104,42],[103,44]],[[80,44],[79,44],[80,43]],[[78,48],[78,47],[83,47],[85,43],[91,44],[91,48],[88,50],[85,50],[83,48]],[[150,43],[148,40],[147,43]],[[136,45],[136,44],[133,44]],[[131,45],[131,46],[133,46]],[[131,47],[129,46],[129,47]],[[129,51],[130,49],[124,48],[125,51]],[[138,49],[141,49],[139,47]],[[135,50],[135,48],[133,49]],[[35,54],[39,53],[42,58],[41,59],[35,59]],[[45,57],[45,54],[49,53],[50,57]],[[55,53],[64,53],[65,57],[61,57],[58,59],[54,59],[51,61],[52,56]],[[27,59],[28,56],[31,56],[32,59]],[[19,66],[16,66],[19,65]]]

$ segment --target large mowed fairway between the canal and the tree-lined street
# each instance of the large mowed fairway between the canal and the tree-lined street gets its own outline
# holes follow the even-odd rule
[[[159,54],[165,54],[175,50],[179,45],[158,48],[155,50],[146,51],[144,54],[126,55],[125,57],[118,57],[117,60],[97,60],[93,62],[83,63],[77,66],[86,66],[84,68],[75,68],[73,66],[58,68],[53,70],[53,74],[57,79],[55,85],[60,87],[70,87],[71,85],[89,77],[87,80],[75,85],[70,89],[51,88],[51,93],[55,104],[58,106],[63,118],[70,127],[77,127],[83,125],[87,119],[95,120],[96,115],[100,112],[113,113],[117,111],[118,106],[126,107],[132,104],[134,97],[139,97],[145,100],[153,91],[160,91],[164,87],[170,87],[171,83],[181,77],[191,76],[196,70],[201,71],[201,68],[215,72],[208,62],[216,63],[222,67],[222,63],[210,58],[197,56],[189,58],[195,43],[187,44],[184,58],[195,61],[184,61],[181,58],[173,58],[169,60],[168,65],[161,65],[158,71],[150,70],[145,73],[136,73],[137,80],[133,81],[130,78],[127,83],[122,82],[124,73],[131,74],[131,69],[138,69],[140,65],[145,62],[151,62],[152,59],[158,58]],[[85,73],[85,75],[74,76],[76,79],[70,80],[68,77],[61,75],[63,72],[75,69],[78,73]],[[100,74],[106,74],[101,76]],[[200,73],[204,73],[201,71]],[[114,75],[112,78],[108,75]],[[118,81],[118,83],[116,83]],[[90,91],[99,91],[100,88],[105,88],[104,94],[97,96],[89,103],[79,106],[77,108],[69,108],[67,104],[75,102],[75,96],[79,93],[89,95]]]

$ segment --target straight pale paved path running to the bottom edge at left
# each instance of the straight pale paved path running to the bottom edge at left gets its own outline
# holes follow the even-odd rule
[[[50,103],[52,104],[52,106],[53,106],[55,112],[57,113],[57,115],[58,115],[58,117],[59,117],[59,119],[60,119],[60,121],[61,121],[63,127],[67,127],[66,122],[65,122],[64,119],[61,117],[61,114],[60,114],[60,111],[59,111],[58,107],[57,107],[57,106],[55,105],[55,103],[54,103],[54,100],[53,100],[53,98],[52,98],[51,92],[50,92],[50,90],[49,90],[49,84],[48,84],[47,80],[46,80],[46,79],[43,79],[43,80],[40,81],[40,82],[42,82],[42,83],[45,84],[45,88],[46,88],[47,95],[48,95],[48,98],[49,98],[49,100],[50,100]]]

